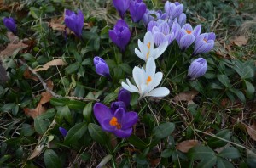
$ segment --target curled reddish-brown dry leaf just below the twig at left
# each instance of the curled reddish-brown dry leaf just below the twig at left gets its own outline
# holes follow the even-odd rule
[[[41,96],[42,98],[40,99],[36,109],[24,108],[25,115],[31,116],[34,119],[46,111],[43,104],[48,103],[52,95],[49,92],[42,92]]]

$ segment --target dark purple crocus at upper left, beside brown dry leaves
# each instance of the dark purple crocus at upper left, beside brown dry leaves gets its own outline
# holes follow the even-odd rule
[[[82,30],[84,26],[84,14],[81,10],[78,11],[78,14],[75,14],[73,11],[65,9],[65,25],[75,33],[76,36],[82,36]]]

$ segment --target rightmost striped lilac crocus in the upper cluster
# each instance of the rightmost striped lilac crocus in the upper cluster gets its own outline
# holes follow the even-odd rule
[[[214,47],[215,33],[203,33],[195,39],[195,48],[192,56],[207,53]]]

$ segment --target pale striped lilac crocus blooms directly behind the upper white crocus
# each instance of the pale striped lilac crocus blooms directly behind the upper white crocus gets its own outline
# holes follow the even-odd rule
[[[172,28],[164,20],[150,21],[148,24],[148,31],[151,31],[154,36],[154,44],[160,46],[163,42],[171,44],[179,33],[181,27],[175,21],[172,24]]]

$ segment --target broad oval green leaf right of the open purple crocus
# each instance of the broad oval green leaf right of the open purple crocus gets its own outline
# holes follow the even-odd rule
[[[166,122],[155,126],[153,130],[153,137],[156,139],[162,139],[169,136],[175,129],[175,125],[172,122]]]

